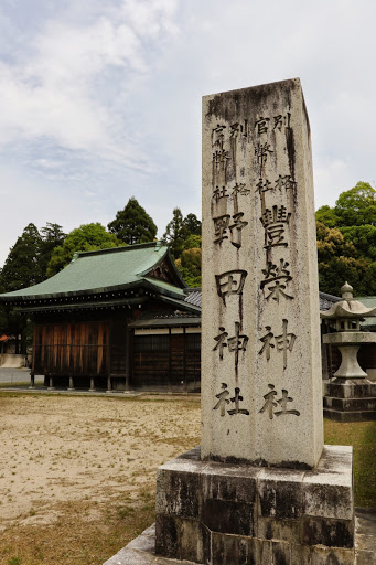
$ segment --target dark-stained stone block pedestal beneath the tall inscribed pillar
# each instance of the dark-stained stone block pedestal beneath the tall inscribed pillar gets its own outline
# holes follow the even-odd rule
[[[309,471],[190,451],[158,470],[155,526],[155,554],[172,559],[353,565],[352,448],[325,446]]]

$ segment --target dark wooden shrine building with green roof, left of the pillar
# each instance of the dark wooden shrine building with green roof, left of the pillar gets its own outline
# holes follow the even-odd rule
[[[201,308],[160,242],[76,254],[0,302],[34,322],[32,385],[200,391]]]

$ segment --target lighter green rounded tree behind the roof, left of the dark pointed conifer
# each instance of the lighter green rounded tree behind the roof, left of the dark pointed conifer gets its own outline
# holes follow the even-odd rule
[[[66,267],[73,259],[73,255],[79,252],[93,252],[119,247],[121,242],[106,232],[105,226],[98,222],[84,224],[68,233],[63,245],[55,247],[47,267],[47,276],[52,277]]]

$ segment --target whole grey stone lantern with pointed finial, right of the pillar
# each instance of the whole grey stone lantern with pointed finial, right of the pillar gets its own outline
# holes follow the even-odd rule
[[[342,355],[340,369],[327,385],[324,396],[324,416],[342,422],[376,418],[376,384],[367,379],[357,361],[361,345],[376,343],[375,332],[361,331],[361,321],[376,315],[376,308],[366,308],[353,297],[347,282],[341,288],[342,300],[320,317],[329,321],[334,333],[323,335],[323,342],[336,345]]]

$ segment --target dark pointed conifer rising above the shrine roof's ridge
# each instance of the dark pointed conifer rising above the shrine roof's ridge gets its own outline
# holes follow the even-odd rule
[[[123,210],[119,210],[107,227],[120,242],[128,245],[149,243],[157,236],[154,222],[135,196],[129,199]]]

